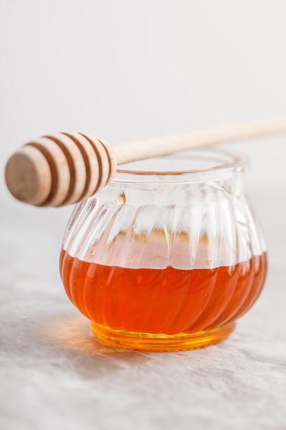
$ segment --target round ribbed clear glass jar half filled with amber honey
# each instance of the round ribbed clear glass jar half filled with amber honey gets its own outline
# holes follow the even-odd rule
[[[233,331],[267,270],[263,235],[241,186],[247,166],[220,150],[141,161],[75,207],[60,273],[99,338],[175,351]]]

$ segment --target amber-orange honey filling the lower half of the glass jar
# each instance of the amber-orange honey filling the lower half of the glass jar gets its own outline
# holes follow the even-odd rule
[[[265,253],[214,269],[128,269],[60,256],[62,282],[93,330],[117,346],[200,348],[229,335],[265,280]],[[145,339],[145,340],[144,340]]]

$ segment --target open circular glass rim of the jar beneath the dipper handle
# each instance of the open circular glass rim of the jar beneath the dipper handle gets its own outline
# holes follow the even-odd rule
[[[175,164],[179,163],[181,166],[194,166],[193,168],[174,168]],[[140,163],[140,164],[139,164]],[[201,148],[193,149],[183,152],[174,152],[171,155],[164,157],[155,157],[153,159],[146,159],[124,165],[124,168],[117,169],[114,179],[112,181],[148,181],[148,177],[152,182],[165,179],[169,181],[176,181],[178,177],[180,181],[186,180],[187,177],[190,181],[213,179],[214,177],[230,177],[235,173],[244,172],[249,166],[249,159],[246,155],[241,155],[226,150],[217,148]],[[144,166],[165,166],[169,165],[171,168],[144,168]],[[128,166],[128,168],[125,168]],[[130,167],[129,167],[130,166]],[[139,168],[137,167],[139,166]],[[177,178],[177,179],[176,179]]]

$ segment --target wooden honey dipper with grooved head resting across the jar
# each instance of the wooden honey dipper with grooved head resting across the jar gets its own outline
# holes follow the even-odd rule
[[[56,133],[25,144],[5,168],[16,199],[36,206],[78,203],[104,187],[117,166],[172,152],[286,132],[286,117],[109,146],[84,133]]]

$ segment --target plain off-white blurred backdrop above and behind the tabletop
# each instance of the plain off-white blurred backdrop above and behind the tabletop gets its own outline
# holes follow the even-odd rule
[[[120,144],[285,115],[285,16],[283,0],[1,0],[1,171],[45,133]],[[274,213],[285,142],[232,144],[252,161],[248,193],[277,194]]]

